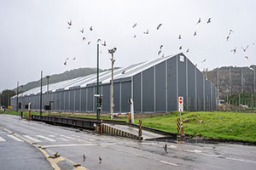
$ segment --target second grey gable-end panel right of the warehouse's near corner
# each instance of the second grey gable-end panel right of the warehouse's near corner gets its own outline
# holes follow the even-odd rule
[[[143,71],[143,112],[154,111],[154,68]]]

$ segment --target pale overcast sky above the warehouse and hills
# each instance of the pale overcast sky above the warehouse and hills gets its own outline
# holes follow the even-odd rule
[[[110,68],[108,48],[117,48],[115,66],[125,66],[160,57],[161,44],[163,54],[183,52],[201,70],[253,65],[255,7],[255,0],[0,0],[0,91],[15,88],[17,81],[38,80],[41,70],[46,76],[96,67],[97,38],[107,42],[107,47],[101,46],[102,69]],[[212,23],[207,24],[209,17]],[[137,27],[132,28],[134,23]],[[83,27],[84,35],[79,31]],[[147,29],[149,34],[143,34]],[[227,42],[230,29],[234,33]],[[247,45],[243,52],[241,46]],[[230,52],[233,48],[236,54]],[[76,60],[65,66],[67,57]],[[203,59],[207,61],[201,63]]]

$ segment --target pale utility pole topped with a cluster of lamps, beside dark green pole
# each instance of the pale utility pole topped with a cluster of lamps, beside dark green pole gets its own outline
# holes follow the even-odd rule
[[[113,119],[113,64],[115,59],[113,59],[113,54],[116,51],[116,48],[108,49],[108,53],[111,54],[111,101],[110,101],[110,113],[111,119]]]

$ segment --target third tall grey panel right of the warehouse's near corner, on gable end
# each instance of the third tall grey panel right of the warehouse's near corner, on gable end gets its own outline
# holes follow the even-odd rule
[[[155,66],[155,111],[166,111],[166,62]]]

